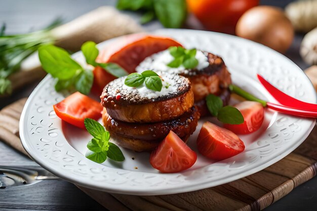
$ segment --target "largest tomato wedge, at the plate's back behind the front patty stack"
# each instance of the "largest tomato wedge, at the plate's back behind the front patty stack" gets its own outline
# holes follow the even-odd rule
[[[181,46],[181,44],[168,37],[146,34],[126,35],[113,41],[104,51],[101,51],[97,62],[113,62],[132,73],[146,57],[171,46]],[[110,73],[99,67],[94,69],[94,78],[94,87],[100,93],[114,79]]]

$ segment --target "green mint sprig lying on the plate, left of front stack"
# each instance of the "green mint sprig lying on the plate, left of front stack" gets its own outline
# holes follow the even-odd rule
[[[109,142],[109,132],[98,121],[86,118],[84,123],[87,131],[94,137],[87,144],[88,151],[85,156],[88,159],[98,163],[104,162],[107,157],[114,161],[125,160],[120,148]]]

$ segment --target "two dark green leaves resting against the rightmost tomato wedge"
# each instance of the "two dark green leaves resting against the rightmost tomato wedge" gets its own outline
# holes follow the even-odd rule
[[[232,106],[224,106],[220,97],[210,94],[206,97],[206,104],[211,115],[223,123],[242,124],[244,122],[241,112]]]

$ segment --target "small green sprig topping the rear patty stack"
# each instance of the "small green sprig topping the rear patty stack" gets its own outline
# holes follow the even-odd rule
[[[196,49],[184,49],[183,47],[172,46],[169,48],[170,54],[174,57],[167,66],[176,68],[183,65],[186,69],[193,69],[198,65],[198,60],[195,58]]]

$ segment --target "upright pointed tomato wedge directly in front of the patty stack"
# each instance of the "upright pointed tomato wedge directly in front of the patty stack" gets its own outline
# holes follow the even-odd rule
[[[163,173],[186,170],[197,160],[197,155],[173,131],[151,153],[151,165]]]

